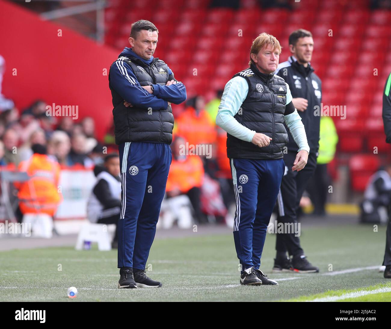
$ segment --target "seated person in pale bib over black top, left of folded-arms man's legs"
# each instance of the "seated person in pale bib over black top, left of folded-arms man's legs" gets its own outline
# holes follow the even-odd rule
[[[87,202],[88,220],[98,224],[115,224],[112,247],[118,247],[118,218],[121,212],[120,158],[111,153],[103,166],[95,166],[97,181]]]

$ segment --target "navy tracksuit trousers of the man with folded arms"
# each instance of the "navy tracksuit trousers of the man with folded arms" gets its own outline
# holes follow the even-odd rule
[[[118,268],[145,269],[155,237],[172,161],[166,143],[119,145],[122,206],[118,220]]]

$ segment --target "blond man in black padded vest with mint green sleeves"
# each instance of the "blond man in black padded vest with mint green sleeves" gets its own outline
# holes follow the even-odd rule
[[[240,284],[278,284],[260,269],[267,225],[285,171],[283,123],[299,146],[292,170],[307,163],[309,147],[289,86],[274,75],[281,53],[278,40],[260,34],[251,46],[249,68],[228,81],[216,116],[227,132],[236,197],[233,236],[241,265]]]

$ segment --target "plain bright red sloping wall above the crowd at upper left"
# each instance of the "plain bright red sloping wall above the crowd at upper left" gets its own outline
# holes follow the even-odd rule
[[[79,105],[79,118],[93,116],[101,138],[113,122],[108,76],[102,73],[117,50],[1,0],[0,31],[6,70],[2,93],[20,110],[37,98],[50,105]]]

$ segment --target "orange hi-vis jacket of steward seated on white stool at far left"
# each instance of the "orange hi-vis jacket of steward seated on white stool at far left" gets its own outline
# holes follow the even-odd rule
[[[63,200],[57,188],[59,164],[45,154],[35,153],[29,160],[19,164],[19,171],[27,172],[31,177],[29,181],[19,184],[18,198],[22,213],[45,213],[54,216]]]

